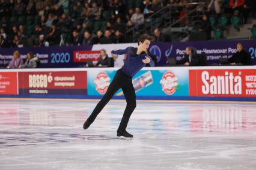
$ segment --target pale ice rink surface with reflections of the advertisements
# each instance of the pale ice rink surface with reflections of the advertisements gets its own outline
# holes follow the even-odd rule
[[[256,103],[0,99],[0,169],[256,169]]]

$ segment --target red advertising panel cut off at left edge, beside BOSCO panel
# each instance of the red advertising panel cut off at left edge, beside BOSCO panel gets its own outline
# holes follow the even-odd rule
[[[17,72],[0,72],[0,95],[17,94]]]

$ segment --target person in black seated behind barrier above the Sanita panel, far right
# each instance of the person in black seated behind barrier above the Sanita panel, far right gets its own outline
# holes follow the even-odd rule
[[[237,52],[228,59],[230,65],[252,65],[251,54],[243,49],[243,45],[241,43],[238,43],[236,48]]]

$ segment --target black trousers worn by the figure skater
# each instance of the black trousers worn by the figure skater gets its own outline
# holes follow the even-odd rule
[[[117,92],[117,90],[119,90],[120,88],[123,90],[127,105],[126,110],[124,110],[123,118],[121,120],[118,130],[126,129],[130,116],[132,115],[133,110],[135,110],[136,108],[136,95],[135,89],[132,84],[132,78],[123,74],[120,69],[118,69],[117,73],[115,74],[115,77],[109,85],[105,95],[96,105],[96,108],[94,108],[93,113],[91,113],[90,117],[88,117],[88,120],[90,122],[94,122],[100,111],[102,111],[102,109],[105,107],[106,104],[108,104],[112,96],[114,96],[115,92]]]

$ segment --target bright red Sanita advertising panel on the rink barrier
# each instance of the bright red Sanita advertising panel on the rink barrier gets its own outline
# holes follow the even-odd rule
[[[189,70],[189,96],[256,97],[256,69]]]

